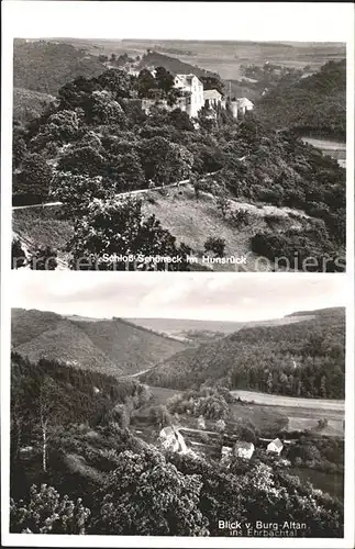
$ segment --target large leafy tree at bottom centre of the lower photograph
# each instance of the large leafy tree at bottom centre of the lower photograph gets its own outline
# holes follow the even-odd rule
[[[201,488],[198,475],[182,474],[155,450],[123,451],[96,496],[101,504],[91,533],[207,536]]]

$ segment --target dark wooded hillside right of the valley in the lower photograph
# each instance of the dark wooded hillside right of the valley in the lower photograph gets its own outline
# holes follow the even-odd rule
[[[344,310],[281,326],[245,327],[186,349],[141,379],[187,389],[222,382],[230,389],[304,397],[344,397]]]

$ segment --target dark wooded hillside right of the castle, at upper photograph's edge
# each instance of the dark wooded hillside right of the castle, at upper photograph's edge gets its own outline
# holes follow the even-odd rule
[[[346,60],[331,60],[297,83],[280,82],[260,98],[257,114],[274,128],[345,139]]]

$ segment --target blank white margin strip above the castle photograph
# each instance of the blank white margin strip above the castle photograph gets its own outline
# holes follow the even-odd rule
[[[16,37],[346,42],[352,2],[4,1]]]

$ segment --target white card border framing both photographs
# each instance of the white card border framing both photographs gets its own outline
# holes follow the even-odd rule
[[[42,536],[9,534],[10,292],[12,41],[14,37],[142,37],[313,41],[347,43],[347,272],[346,472],[343,539],[242,538],[243,547],[340,547],[354,542],[354,8],[347,3],[51,2],[4,1],[2,9],[1,117],[1,418],[2,544],[19,547],[235,547],[235,538]],[[247,25],[252,20],[251,26]],[[26,271],[24,276],[34,276]],[[51,273],[48,273],[51,276]],[[82,276],[82,273],[73,273]],[[88,273],[86,273],[88,276]],[[93,276],[98,276],[95,273]],[[113,276],[118,276],[113,273]],[[179,273],[184,276],[184,273]],[[217,273],[218,277],[223,276]],[[241,273],[235,276],[257,276]],[[271,277],[280,276],[270,273]],[[289,273],[288,276],[303,276]],[[328,276],[328,274],[323,274]]]

